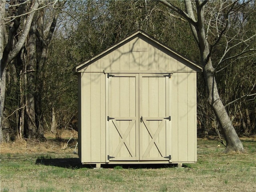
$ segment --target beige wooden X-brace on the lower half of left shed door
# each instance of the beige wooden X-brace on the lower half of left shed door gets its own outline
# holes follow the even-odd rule
[[[116,127],[116,130],[118,131],[120,137],[122,138],[122,140],[121,140],[120,143],[118,144],[118,146],[117,146],[117,148],[116,148],[116,150],[115,150],[113,156],[115,157],[115,156],[118,154],[118,152],[120,151],[122,145],[124,144],[124,145],[126,146],[128,152],[130,153],[130,155],[131,155],[132,157],[135,157],[135,153],[133,152],[132,148],[130,147],[130,145],[128,144],[128,142],[127,142],[127,140],[126,140],[128,134],[130,133],[132,127],[134,126],[135,120],[132,120],[132,122],[129,124],[129,126],[128,126],[128,128],[126,129],[126,131],[125,131],[124,134],[122,133],[122,130],[119,128],[119,126],[118,126],[116,120],[113,119],[112,122],[113,122],[114,126]]]

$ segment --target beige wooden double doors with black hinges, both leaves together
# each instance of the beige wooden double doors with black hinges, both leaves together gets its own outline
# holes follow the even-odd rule
[[[107,161],[170,160],[170,74],[106,74]]]

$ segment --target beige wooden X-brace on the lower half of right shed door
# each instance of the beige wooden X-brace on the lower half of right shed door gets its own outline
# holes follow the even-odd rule
[[[160,123],[160,125],[158,126],[155,134],[153,135],[152,133],[152,129],[150,128],[150,125],[148,124],[148,122],[145,122],[143,118],[141,118],[142,122],[144,123],[146,129],[148,130],[148,133],[150,135],[150,137],[152,138],[152,140],[150,141],[148,148],[146,149],[146,151],[144,152],[142,157],[145,157],[148,155],[148,153],[150,152],[150,149],[152,148],[152,146],[155,144],[156,148],[158,149],[158,152],[160,153],[160,155],[162,157],[164,154],[164,151],[161,149],[160,144],[156,141],[156,138],[158,137],[158,134],[160,133],[160,131],[162,130],[164,124],[165,124],[165,120],[162,120],[162,122]]]

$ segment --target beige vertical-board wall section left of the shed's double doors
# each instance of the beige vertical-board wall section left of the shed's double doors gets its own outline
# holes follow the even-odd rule
[[[105,141],[105,74],[81,73],[81,162],[104,162]]]

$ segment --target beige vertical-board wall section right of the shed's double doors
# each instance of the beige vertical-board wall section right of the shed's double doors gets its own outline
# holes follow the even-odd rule
[[[172,74],[172,162],[195,162],[196,73]]]

